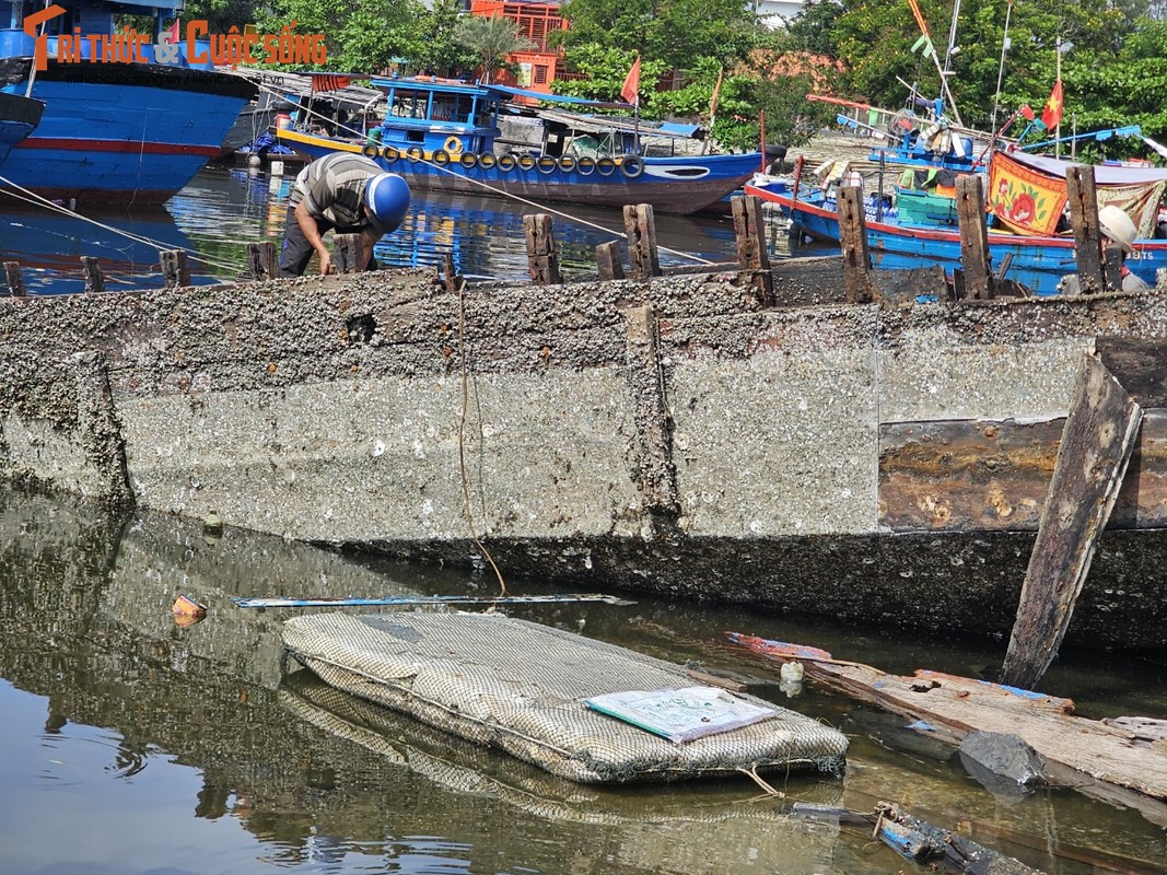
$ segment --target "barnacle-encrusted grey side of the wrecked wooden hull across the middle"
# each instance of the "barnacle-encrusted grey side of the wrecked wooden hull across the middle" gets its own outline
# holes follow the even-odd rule
[[[767,309],[725,273],[463,314],[394,272],[6,299],[0,473],[460,561],[468,495],[509,569],[999,634],[1112,335],[1167,337],[1167,298]],[[1104,538],[1071,640],[1163,639],[1165,446],[1152,411],[1112,519],[1140,531]]]

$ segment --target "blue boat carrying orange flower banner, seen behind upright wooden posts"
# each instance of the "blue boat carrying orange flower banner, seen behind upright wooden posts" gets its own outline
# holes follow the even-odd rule
[[[1067,202],[1069,161],[997,152],[986,173],[988,250],[992,265],[1008,259],[1007,278],[1036,295],[1057,294],[1058,282],[1074,273],[1074,237],[1058,231]],[[1112,203],[1131,217],[1139,237],[1126,265],[1154,286],[1167,267],[1167,239],[1155,236],[1167,170],[1099,166],[1095,168],[1100,203]],[[776,204],[796,228],[812,239],[840,239],[833,186],[769,184],[757,178],[746,194]],[[953,192],[955,195],[955,192]],[[894,198],[868,195],[865,202],[867,243],[876,268],[903,270],[938,264],[949,273],[960,267],[960,233],[952,197],[931,190],[896,189]]]

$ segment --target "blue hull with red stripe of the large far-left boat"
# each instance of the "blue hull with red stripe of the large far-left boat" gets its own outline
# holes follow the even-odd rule
[[[50,61],[33,86],[46,104],[41,124],[0,176],[81,204],[161,203],[218,155],[253,93],[238,77],[205,70]]]

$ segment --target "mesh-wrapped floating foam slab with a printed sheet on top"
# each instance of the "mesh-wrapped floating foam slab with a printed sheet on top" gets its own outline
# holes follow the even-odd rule
[[[501,614],[296,617],[292,656],[322,680],[584,783],[839,774],[846,737],[678,665]]]

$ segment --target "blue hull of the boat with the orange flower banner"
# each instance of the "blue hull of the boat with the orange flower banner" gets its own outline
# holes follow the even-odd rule
[[[839,219],[834,210],[806,201],[794,201],[789,191],[747,186],[746,192],[777,204],[809,237],[826,243],[839,242]],[[904,270],[941,265],[948,273],[960,267],[960,233],[956,228],[895,225],[867,219],[867,244],[878,268]],[[1127,258],[1131,272],[1149,286],[1155,273],[1167,267],[1167,240],[1137,240]],[[1057,294],[1057,282],[1077,270],[1074,239],[1068,237],[1019,237],[988,232],[992,264],[1004,264],[1012,256],[1008,279],[1027,286],[1036,295]]]

